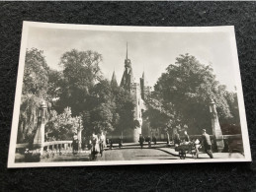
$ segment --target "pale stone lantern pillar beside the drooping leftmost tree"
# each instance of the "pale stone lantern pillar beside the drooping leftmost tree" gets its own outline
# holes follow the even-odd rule
[[[45,103],[45,101],[43,101],[40,105],[37,133],[36,133],[34,141],[33,141],[33,148],[40,149],[41,155],[43,155],[44,125],[46,123],[46,119],[45,119],[46,108],[47,108],[46,103]]]

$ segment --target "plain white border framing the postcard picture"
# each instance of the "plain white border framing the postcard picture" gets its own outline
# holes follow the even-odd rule
[[[244,147],[244,159],[213,159],[213,160],[112,160],[112,161],[61,161],[61,162],[15,162],[15,151],[18,134],[20,103],[22,95],[25,55],[30,28],[63,29],[63,30],[87,30],[87,31],[116,31],[116,32],[228,32],[231,37],[233,67],[236,73],[237,97],[239,105],[241,133]],[[251,161],[250,144],[247,122],[245,116],[244,98],[240,77],[240,69],[237,55],[237,47],[233,26],[223,27],[128,27],[128,26],[89,26],[74,24],[50,24],[37,22],[24,22],[20,59],[18,68],[17,87],[13,111],[12,130],[10,136],[8,167],[42,167],[42,166],[81,166],[81,165],[120,165],[120,164],[162,164],[162,163],[195,163],[195,162],[238,162]]]

